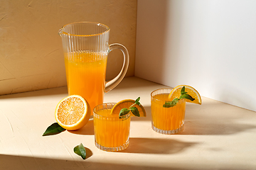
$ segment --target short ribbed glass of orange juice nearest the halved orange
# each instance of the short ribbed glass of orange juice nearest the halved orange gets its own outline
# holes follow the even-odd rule
[[[117,152],[129,146],[131,117],[111,115],[116,103],[103,103],[93,109],[95,145],[97,148]]]

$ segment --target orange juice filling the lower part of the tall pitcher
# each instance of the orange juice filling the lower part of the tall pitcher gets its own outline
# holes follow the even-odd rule
[[[92,109],[103,103],[107,54],[70,52],[65,54],[68,94],[85,98]],[[92,112],[91,112],[92,115]]]

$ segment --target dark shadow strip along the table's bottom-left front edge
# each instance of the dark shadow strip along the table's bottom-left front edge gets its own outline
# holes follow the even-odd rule
[[[69,169],[69,170],[81,170],[81,169],[179,169],[173,164],[169,164],[169,167],[159,167],[159,166],[145,166],[145,165],[132,165],[131,164],[119,164],[117,160],[112,160],[110,163],[102,162],[90,162],[90,159],[80,161],[75,161],[74,159],[49,159],[41,157],[24,157],[24,156],[14,156],[0,154],[0,169]],[[177,165],[177,164],[176,164]],[[175,167],[175,168],[172,168]],[[183,168],[182,168],[183,169]]]

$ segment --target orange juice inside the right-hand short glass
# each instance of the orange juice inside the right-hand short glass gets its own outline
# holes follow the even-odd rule
[[[152,123],[160,130],[177,130],[184,124],[186,101],[180,100],[171,108],[164,108],[169,94],[156,94],[151,98]]]

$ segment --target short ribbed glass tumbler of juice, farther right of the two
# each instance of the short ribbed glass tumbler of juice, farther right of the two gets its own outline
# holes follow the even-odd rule
[[[186,101],[181,99],[176,106],[164,108],[172,89],[157,89],[151,92],[152,129],[162,134],[176,134],[183,130]]]

